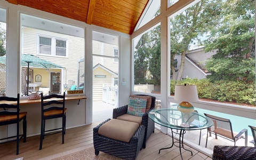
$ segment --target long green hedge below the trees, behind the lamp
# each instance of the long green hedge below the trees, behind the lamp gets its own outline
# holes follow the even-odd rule
[[[171,81],[171,94],[174,94],[175,85],[185,83],[197,86],[199,98],[255,105],[255,83],[223,80],[210,82],[209,79],[186,78],[182,81]]]

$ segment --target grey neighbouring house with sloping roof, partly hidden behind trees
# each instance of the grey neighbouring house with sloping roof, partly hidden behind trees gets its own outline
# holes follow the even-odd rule
[[[206,76],[210,75],[210,73],[205,69],[205,62],[214,54],[216,54],[215,51],[205,53],[204,47],[188,51],[185,57],[185,67],[182,78],[206,78]],[[176,76],[178,76],[180,70],[181,55],[175,56],[174,61],[177,61],[177,66],[175,66],[175,69],[178,69],[176,73]]]

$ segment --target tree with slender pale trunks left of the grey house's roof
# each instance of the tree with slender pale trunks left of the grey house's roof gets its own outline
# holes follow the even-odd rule
[[[171,23],[171,62],[175,55],[181,55],[178,80],[181,80],[185,66],[185,54],[193,45],[194,40],[202,36],[209,24],[217,24],[221,0],[202,0],[170,19]],[[171,65],[175,79],[174,63]]]

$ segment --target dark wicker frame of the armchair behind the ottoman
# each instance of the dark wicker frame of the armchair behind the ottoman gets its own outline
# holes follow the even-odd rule
[[[150,95],[146,95],[146,94],[135,94],[135,95],[150,96]],[[155,105],[156,105],[156,97],[154,97],[154,96],[150,96],[150,97],[151,97],[151,106],[150,106],[149,111],[155,109]],[[113,119],[116,119],[119,116],[127,114],[127,109],[128,109],[128,105],[113,109]],[[146,127],[145,139],[144,139],[143,146],[142,146],[143,148],[146,148],[146,141],[148,140],[150,135],[155,130],[155,122],[152,119],[148,118],[149,111],[142,116],[141,125],[144,125]]]

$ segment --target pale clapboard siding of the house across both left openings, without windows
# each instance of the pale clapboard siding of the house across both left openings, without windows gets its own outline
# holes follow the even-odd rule
[[[56,37],[61,39],[67,39],[67,50],[68,57],[55,57],[51,55],[40,55],[37,54],[37,36],[45,36],[45,37]],[[77,60],[84,58],[84,39],[63,35],[58,33],[52,33],[49,31],[39,30],[35,28],[23,27],[23,53],[34,54],[42,59],[49,60],[53,63],[56,63],[62,67],[63,69],[63,79],[61,84],[68,84],[69,80],[75,81],[75,85],[77,85]],[[93,54],[96,55],[107,55],[110,57],[114,57],[114,48],[116,45],[111,45],[107,43],[102,43],[99,41],[93,41]],[[118,73],[118,62],[114,62],[114,58],[103,58],[99,56],[93,56],[93,67],[100,63],[102,66],[107,69]],[[79,84],[84,82],[84,77],[82,76],[84,73],[84,62],[81,62],[79,65]],[[100,72],[101,71],[101,72]],[[67,76],[66,76],[67,73]],[[106,78],[95,78],[94,75],[104,75],[106,74]],[[103,69],[96,69],[93,71],[93,100],[102,100],[102,84],[108,84],[111,86],[111,73]],[[49,82],[50,83],[50,82]],[[78,85],[79,85],[78,84]],[[86,83],[85,83],[86,84]]]

